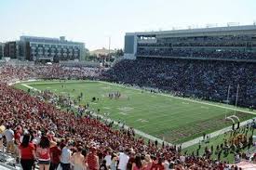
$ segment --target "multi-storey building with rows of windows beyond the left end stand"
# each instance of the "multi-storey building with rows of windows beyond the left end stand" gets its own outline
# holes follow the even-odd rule
[[[19,41],[5,44],[5,56],[26,60],[74,60],[81,59],[85,44],[59,38],[20,36]]]

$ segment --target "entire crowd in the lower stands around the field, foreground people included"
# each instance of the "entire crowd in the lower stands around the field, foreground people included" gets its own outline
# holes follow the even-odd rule
[[[254,70],[255,66],[250,64],[138,59],[117,63],[101,78],[176,91],[182,96],[213,99],[222,99],[228,83],[239,83],[239,96],[246,103],[251,97],[245,95],[244,88],[254,87]],[[37,160],[40,169],[45,170],[56,169],[60,164],[63,170],[71,167],[74,170],[238,169],[228,167],[220,160],[212,160],[207,155],[182,154],[180,147],[157,141],[146,142],[141,137],[135,137],[132,131],[114,129],[90,114],[77,116],[57,109],[56,102],[58,104],[60,100],[48,102],[52,99],[48,93],[32,96],[7,85],[15,80],[31,78],[97,77],[101,74],[98,70],[66,70],[59,65],[51,65],[5,66],[0,72],[0,126],[7,127],[4,133],[7,152],[13,153],[24,169],[33,169],[34,160]],[[235,91],[236,86],[232,86],[231,99],[235,98]],[[84,109],[88,108],[85,106]],[[0,146],[1,142],[2,136]]]

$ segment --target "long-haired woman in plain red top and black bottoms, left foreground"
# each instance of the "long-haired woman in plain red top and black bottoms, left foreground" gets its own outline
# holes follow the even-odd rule
[[[32,170],[35,158],[34,144],[30,141],[31,136],[26,134],[23,136],[20,149],[20,163],[24,170]]]

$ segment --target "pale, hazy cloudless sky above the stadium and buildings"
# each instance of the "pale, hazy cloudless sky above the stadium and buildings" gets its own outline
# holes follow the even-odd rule
[[[123,48],[125,33],[256,22],[256,0],[0,0],[0,42],[20,35]]]

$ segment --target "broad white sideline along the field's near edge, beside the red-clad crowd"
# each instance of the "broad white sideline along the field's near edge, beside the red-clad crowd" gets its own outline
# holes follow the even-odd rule
[[[40,90],[34,88],[33,86],[30,86],[30,85],[24,85],[24,84],[21,84],[21,85],[23,85],[23,86],[25,86],[25,87],[27,87],[27,88],[31,88],[31,89],[40,91]],[[76,107],[78,107],[78,106],[76,106]],[[101,114],[97,114],[97,113],[95,113],[95,112],[94,112],[93,114],[94,114],[94,115],[97,115],[97,116],[100,116],[103,120],[109,119],[109,118],[104,118]],[[114,120],[111,119],[111,121],[114,121]],[[117,125],[118,125],[118,122],[114,121],[114,124],[117,124]],[[128,126],[128,125],[125,125],[124,127],[125,127],[125,129],[127,129],[127,130],[129,129],[129,126]],[[149,134],[146,134],[146,133],[142,132],[141,130],[138,130],[138,129],[135,129],[135,128],[133,128],[133,129],[134,129],[135,134],[140,135],[141,137],[149,138],[149,139],[154,140],[154,141],[157,140],[159,143],[165,142],[165,143],[168,144],[168,145],[172,145],[171,143],[169,143],[169,142],[167,142],[167,141],[164,141],[164,140],[162,140],[162,139],[160,139],[160,138],[157,138],[157,137],[151,136],[151,135],[149,135]]]

